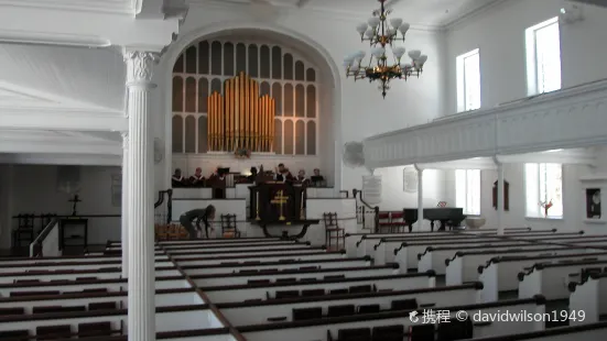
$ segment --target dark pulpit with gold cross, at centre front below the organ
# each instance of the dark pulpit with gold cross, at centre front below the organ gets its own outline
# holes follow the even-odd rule
[[[304,184],[263,182],[250,186],[249,219],[251,223],[263,229],[265,237],[272,235],[268,228],[282,228],[280,235],[285,240],[299,240],[303,238],[311,224],[316,224],[319,219],[305,219],[305,190]],[[286,228],[303,226],[300,233],[290,235]]]

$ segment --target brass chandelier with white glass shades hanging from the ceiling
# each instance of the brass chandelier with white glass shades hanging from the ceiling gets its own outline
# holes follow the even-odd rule
[[[362,65],[365,51],[353,53],[344,58],[346,67],[346,77],[354,77],[354,80],[369,79],[369,82],[379,80],[381,85],[379,89],[386,98],[386,92],[390,89],[390,80],[404,79],[416,76],[419,77],[423,70],[423,66],[427,61],[426,55],[422,55],[419,50],[409,52],[411,63],[402,61],[405,53],[404,47],[394,46],[398,41],[404,42],[407,31],[410,25],[402,19],[392,18],[388,20],[388,15],[392,12],[386,9],[386,0],[378,0],[381,3],[379,10],[372,12],[366,23],[356,26],[356,31],[360,34],[362,42],[368,41],[371,46],[371,56],[369,64]],[[387,56],[387,46],[392,50],[394,63],[390,64]]]

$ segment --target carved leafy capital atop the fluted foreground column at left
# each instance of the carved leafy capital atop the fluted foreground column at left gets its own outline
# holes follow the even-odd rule
[[[127,63],[127,87],[152,88],[154,64],[160,59],[155,52],[124,50]]]

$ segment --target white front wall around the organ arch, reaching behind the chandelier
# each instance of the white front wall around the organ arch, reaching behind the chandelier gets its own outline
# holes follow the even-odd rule
[[[375,6],[369,4],[369,10]],[[438,117],[443,110],[443,92],[444,79],[443,68],[441,65],[441,34],[411,30],[408,33],[408,40],[404,46],[408,50],[419,48],[429,55],[429,62],[425,65],[424,74],[419,79],[410,79],[409,81],[394,81],[391,89],[383,100],[377,85],[370,85],[368,81],[354,82],[353,79],[346,79],[342,69],[342,61],[344,56],[358,50],[368,50],[368,44],[361,43],[356,32],[356,24],[366,21],[366,16],[357,19],[340,18],[340,15],[324,14],[307,10],[280,10],[272,19],[265,19],[263,22],[251,14],[251,8],[248,6],[205,6],[198,7],[192,4],[187,19],[181,28],[180,40],[165,54],[163,62],[159,65],[155,73],[155,82],[159,88],[155,89],[158,96],[154,108],[170,108],[166,103],[171,100],[171,90],[167,75],[172,69],[173,61],[170,57],[175,56],[181,52],[181,47],[189,43],[192,40],[200,37],[198,32],[204,30],[209,31],[209,28],[265,28],[273,29],[285,34],[299,36],[307,42],[307,45],[316,45],[315,48],[305,46],[304,43],[293,38],[293,44],[311,55],[311,59],[317,63],[325,64],[323,77],[330,78],[330,68],[336,66],[339,68],[340,98],[334,102],[332,108],[334,111],[334,124],[337,127],[334,141],[319,145],[318,148],[335,148],[336,157],[340,157],[342,146],[345,142],[361,141],[366,136],[387,132],[394,129],[405,128],[425,123],[429,120]],[[394,13],[398,15],[398,13]],[[180,45],[180,42],[183,44]],[[178,50],[178,51],[176,51]],[[322,51],[330,58],[323,61]],[[328,62],[328,63],[327,63]],[[322,66],[319,65],[322,68]],[[333,81],[333,79],[330,80]],[[332,91],[326,91],[327,95]],[[170,130],[165,129],[166,116],[170,112],[163,112],[156,117],[154,124],[155,134],[163,141],[169,141]],[[321,128],[322,130],[322,128]],[[333,144],[334,143],[334,144]],[[166,154],[170,150],[166,151]],[[337,161],[337,165],[340,162]],[[167,187],[170,179],[170,167],[166,164],[156,166],[156,188]],[[361,176],[367,173],[364,168],[342,168],[336,167],[336,187],[343,189],[360,188]],[[340,180],[339,180],[340,175]],[[384,178],[384,180],[388,180]],[[339,186],[339,183],[342,186]]]

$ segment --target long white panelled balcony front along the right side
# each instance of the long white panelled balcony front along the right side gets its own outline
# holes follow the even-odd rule
[[[607,80],[365,140],[370,168],[607,144]]]

